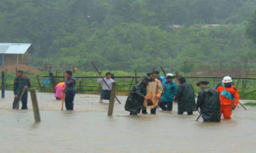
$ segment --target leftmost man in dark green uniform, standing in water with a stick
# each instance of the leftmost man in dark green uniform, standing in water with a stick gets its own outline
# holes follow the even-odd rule
[[[14,80],[14,86],[13,86],[13,92],[14,92],[14,96],[15,99],[13,101],[13,106],[12,108],[15,109],[19,109],[18,105],[18,101],[20,99],[20,96],[22,94],[23,89],[26,89],[26,91],[24,92],[24,95],[21,98],[21,103],[22,103],[22,110],[27,110],[28,106],[28,88],[31,87],[30,84],[30,80],[29,78],[24,77],[24,72],[22,70],[17,71],[17,78],[15,78]]]

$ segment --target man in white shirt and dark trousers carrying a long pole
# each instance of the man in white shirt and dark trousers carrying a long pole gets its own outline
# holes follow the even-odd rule
[[[111,73],[108,72],[106,73],[106,77],[102,78],[102,75],[99,75],[99,78],[97,80],[97,82],[99,84],[103,84],[102,85],[102,91],[101,91],[101,94],[100,94],[100,102],[104,100],[109,100],[110,98],[110,94],[111,94],[111,88],[112,88],[112,84],[113,82],[115,82],[115,80],[113,80],[111,78]],[[103,80],[104,79],[104,80]],[[106,85],[108,84],[108,85]]]

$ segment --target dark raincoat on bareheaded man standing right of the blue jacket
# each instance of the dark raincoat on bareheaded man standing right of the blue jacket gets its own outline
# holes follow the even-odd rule
[[[195,91],[185,78],[181,81],[175,96],[175,101],[178,101],[178,112],[193,112],[196,106]]]

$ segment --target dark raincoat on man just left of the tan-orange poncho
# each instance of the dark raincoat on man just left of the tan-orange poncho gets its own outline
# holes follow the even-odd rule
[[[134,85],[131,93],[129,94],[126,103],[125,110],[131,113],[139,113],[141,106],[144,102],[144,97],[147,95],[147,84],[139,82]]]

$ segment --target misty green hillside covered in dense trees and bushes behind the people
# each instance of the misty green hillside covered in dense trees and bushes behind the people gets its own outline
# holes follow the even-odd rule
[[[0,42],[32,43],[37,67],[174,71],[190,60],[255,59],[246,32],[255,9],[255,0],[1,0]]]

